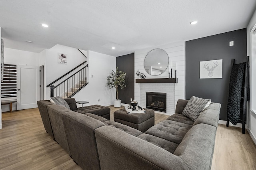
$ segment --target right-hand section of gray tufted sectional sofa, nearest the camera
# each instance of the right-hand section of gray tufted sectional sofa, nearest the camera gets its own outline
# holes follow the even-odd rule
[[[186,103],[179,100],[176,114],[137,137],[97,128],[101,169],[210,170],[220,104],[211,103],[194,122],[181,114]]]

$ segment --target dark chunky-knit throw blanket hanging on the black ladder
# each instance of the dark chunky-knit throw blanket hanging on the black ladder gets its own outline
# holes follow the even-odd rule
[[[246,62],[233,65],[230,75],[227,114],[230,122],[234,125],[238,123],[240,117],[241,92],[245,67]]]

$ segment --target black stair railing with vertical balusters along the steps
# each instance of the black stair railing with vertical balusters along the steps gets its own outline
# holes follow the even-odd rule
[[[60,96],[63,98],[70,98],[78,93],[78,91],[88,84],[86,78],[86,67],[88,67],[88,64],[56,86],[52,85],[52,83],[49,84],[50,97]]]

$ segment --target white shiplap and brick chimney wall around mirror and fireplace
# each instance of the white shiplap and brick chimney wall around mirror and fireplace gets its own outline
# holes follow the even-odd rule
[[[158,76],[152,76],[144,68],[144,59],[147,53],[155,48],[163,49],[168,54],[169,65],[171,61],[173,63],[173,77],[175,77],[174,63],[176,63],[178,83],[135,83],[135,79],[140,79],[136,75],[138,70],[146,75],[146,79],[168,78],[168,69]],[[175,113],[178,99],[185,99],[185,42],[174,42],[134,51],[134,99],[142,107],[146,107],[146,91],[166,93],[166,113],[159,113],[166,115]]]

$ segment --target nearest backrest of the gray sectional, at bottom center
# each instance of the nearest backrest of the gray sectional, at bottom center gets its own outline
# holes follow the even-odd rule
[[[179,156],[116,128],[99,127],[95,136],[102,169],[189,169]]]

